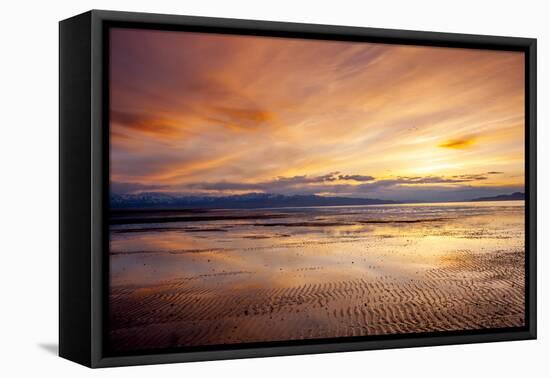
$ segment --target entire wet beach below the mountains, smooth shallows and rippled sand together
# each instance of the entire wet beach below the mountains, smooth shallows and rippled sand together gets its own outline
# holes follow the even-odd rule
[[[118,352],[524,325],[523,201],[113,223]]]

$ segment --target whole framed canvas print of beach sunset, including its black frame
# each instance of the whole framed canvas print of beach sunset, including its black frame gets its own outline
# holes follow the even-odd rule
[[[60,355],[536,337],[536,40],[60,23]]]

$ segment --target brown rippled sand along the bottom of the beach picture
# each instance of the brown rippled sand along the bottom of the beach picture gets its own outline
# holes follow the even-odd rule
[[[254,272],[220,274],[246,278]],[[410,279],[383,276],[278,288],[205,284],[215,278],[112,288],[111,345],[128,351],[524,325],[521,250],[457,251],[440,267]]]

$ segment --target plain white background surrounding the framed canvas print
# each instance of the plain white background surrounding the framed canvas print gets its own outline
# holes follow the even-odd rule
[[[0,22],[0,375],[503,378],[548,374],[547,5],[540,0],[4,2]],[[57,22],[92,8],[538,38],[539,340],[103,370],[57,357]]]

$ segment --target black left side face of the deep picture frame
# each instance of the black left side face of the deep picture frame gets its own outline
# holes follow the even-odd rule
[[[91,12],[59,22],[59,355],[91,366]]]

